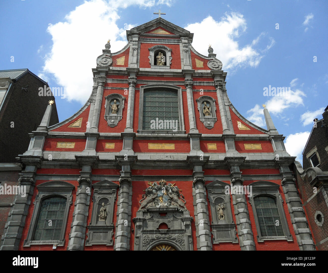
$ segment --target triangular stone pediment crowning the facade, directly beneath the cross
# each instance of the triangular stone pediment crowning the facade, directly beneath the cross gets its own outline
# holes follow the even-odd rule
[[[127,37],[129,40],[129,36],[135,34],[161,34],[161,35],[181,35],[189,36],[190,39],[193,38],[194,33],[190,33],[187,29],[183,29],[179,26],[172,24],[171,22],[163,19],[156,18],[152,21],[149,21],[145,24],[132,28],[131,30],[127,30]]]

